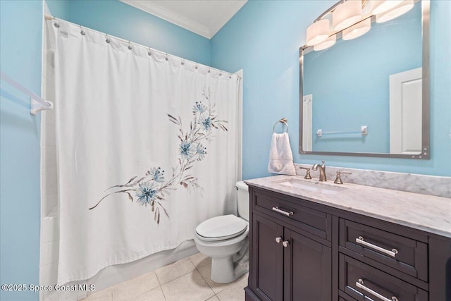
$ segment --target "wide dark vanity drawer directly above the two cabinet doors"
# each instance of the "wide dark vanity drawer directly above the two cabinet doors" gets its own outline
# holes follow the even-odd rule
[[[252,205],[256,211],[290,223],[292,226],[320,238],[330,240],[330,215],[324,212],[260,192],[255,193]]]

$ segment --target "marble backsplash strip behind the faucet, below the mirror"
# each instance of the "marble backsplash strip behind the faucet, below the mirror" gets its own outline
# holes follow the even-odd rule
[[[310,168],[311,178],[319,178],[319,171],[312,171],[311,165],[296,164],[298,176],[305,176],[306,170],[299,167]],[[348,171],[352,174],[341,174],[341,179],[346,183],[366,185],[378,188],[421,193],[424,195],[436,195],[438,197],[451,198],[451,177],[426,176],[413,173],[394,173],[390,171],[372,171],[367,169],[343,168],[327,166],[326,176],[333,182],[337,171]]]

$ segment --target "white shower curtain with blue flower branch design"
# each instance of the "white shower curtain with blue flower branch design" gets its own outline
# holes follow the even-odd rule
[[[235,212],[240,78],[49,22],[55,109],[42,133],[54,132],[57,174],[42,183],[58,195],[58,283],[177,247]]]

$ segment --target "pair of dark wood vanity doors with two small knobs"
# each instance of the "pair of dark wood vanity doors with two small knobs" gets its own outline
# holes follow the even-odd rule
[[[260,300],[330,300],[330,247],[264,214],[252,225],[252,287]]]

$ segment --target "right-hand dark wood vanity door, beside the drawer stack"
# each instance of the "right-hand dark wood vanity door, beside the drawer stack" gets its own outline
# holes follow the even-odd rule
[[[285,228],[285,301],[332,300],[332,255],[330,247]],[[335,292],[337,293],[337,292]]]

